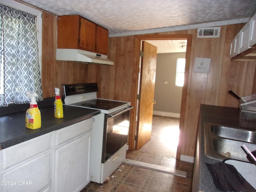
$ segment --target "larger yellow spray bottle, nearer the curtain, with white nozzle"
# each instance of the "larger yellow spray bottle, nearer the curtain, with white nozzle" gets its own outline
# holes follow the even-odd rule
[[[30,98],[29,109],[26,111],[26,128],[38,129],[41,128],[41,113],[38,109],[35,92],[27,91],[27,97]]]

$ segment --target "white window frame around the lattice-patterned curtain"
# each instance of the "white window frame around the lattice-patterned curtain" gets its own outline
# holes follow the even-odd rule
[[[37,41],[38,41],[38,60],[40,75],[42,78],[42,11],[22,4],[14,0],[0,0],[0,4],[21,10],[36,16],[36,31],[37,31]],[[2,61],[1,61],[2,62]],[[1,65],[2,66],[2,65]],[[3,77],[3,70],[1,70],[1,77]],[[0,96],[3,96],[3,89],[0,90]]]

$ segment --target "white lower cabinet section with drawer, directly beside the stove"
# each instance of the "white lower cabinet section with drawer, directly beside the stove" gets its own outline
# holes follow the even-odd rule
[[[54,192],[79,192],[90,182],[92,118],[56,131]]]

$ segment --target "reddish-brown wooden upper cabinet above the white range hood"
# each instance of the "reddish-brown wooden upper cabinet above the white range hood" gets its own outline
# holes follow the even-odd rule
[[[108,30],[79,15],[58,17],[57,47],[108,54]]]

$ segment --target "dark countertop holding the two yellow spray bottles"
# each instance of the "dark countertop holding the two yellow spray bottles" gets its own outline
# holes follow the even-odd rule
[[[29,104],[27,104],[28,107]],[[58,119],[54,117],[53,102],[48,106],[39,106],[39,110],[41,112],[42,126],[36,130],[26,128],[26,110],[0,116],[0,149],[13,146],[100,114],[100,110],[63,105],[64,118]]]

